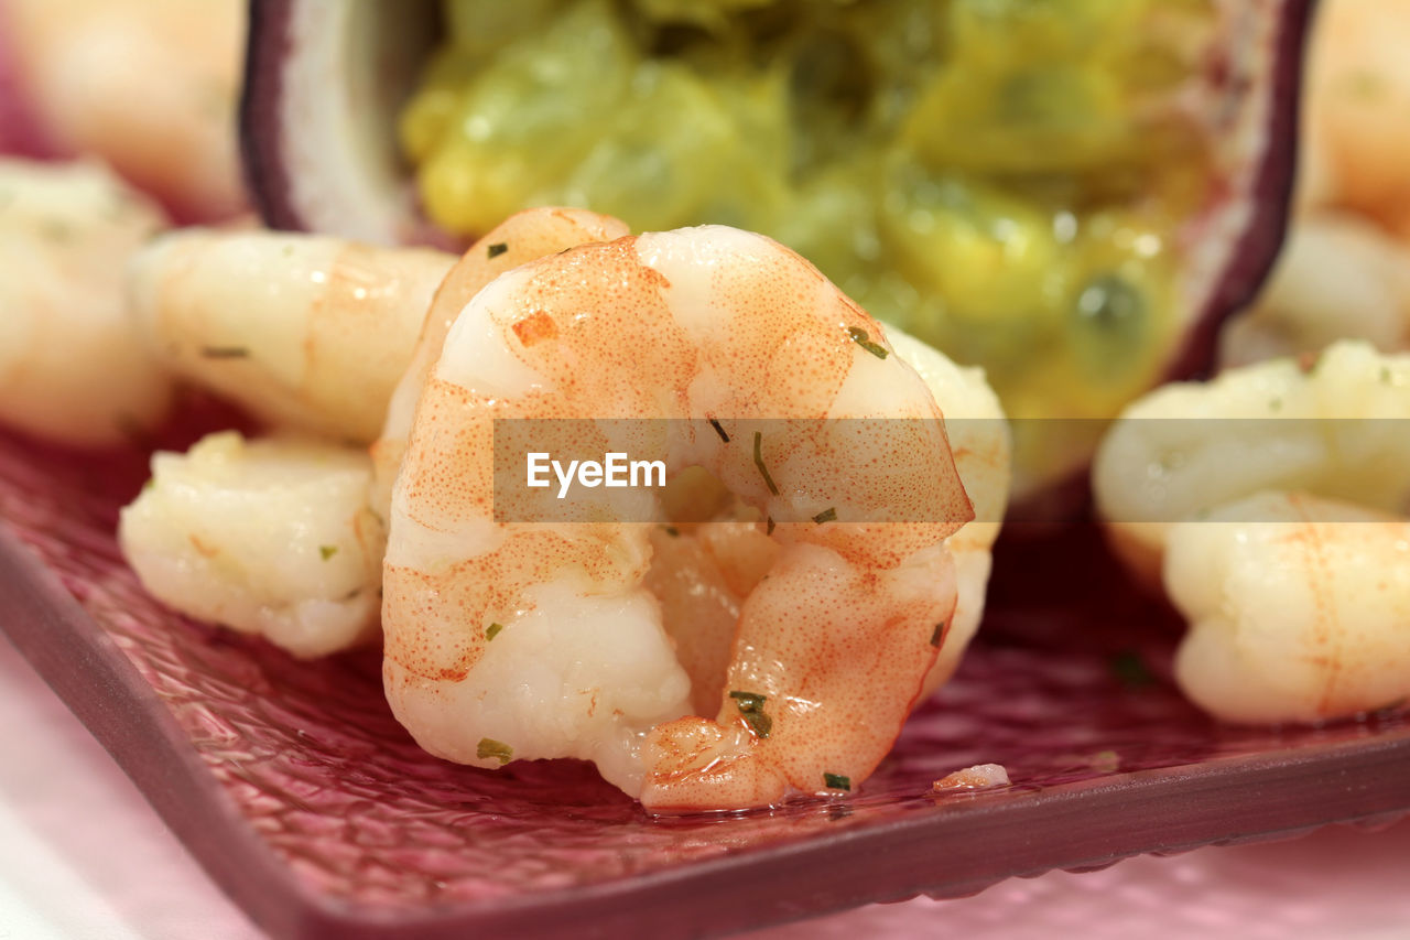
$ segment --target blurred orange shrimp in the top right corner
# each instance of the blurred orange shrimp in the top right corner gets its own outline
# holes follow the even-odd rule
[[[1410,0],[1325,0],[1308,55],[1301,202],[1410,240]]]

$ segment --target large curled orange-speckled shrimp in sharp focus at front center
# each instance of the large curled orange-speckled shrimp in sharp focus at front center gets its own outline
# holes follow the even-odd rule
[[[494,517],[495,418],[642,416],[695,419],[668,442],[670,470],[702,466],[768,518],[826,517],[797,494],[846,481],[839,518],[933,519],[780,522],[713,720],[689,716],[643,586],[647,526]],[[592,759],[654,809],[770,805],[866,778],[936,659],[956,605],[945,541],[973,510],[936,421],[887,460],[826,442],[753,450],[705,422],[780,416],[940,414],[874,320],[760,236],[588,244],[481,291],[422,392],[393,490],[384,675],[400,721],[479,766]]]

